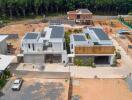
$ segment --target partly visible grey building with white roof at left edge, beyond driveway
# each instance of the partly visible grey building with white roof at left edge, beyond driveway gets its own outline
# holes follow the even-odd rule
[[[0,35],[0,54],[6,54],[7,53],[7,39],[8,35]]]

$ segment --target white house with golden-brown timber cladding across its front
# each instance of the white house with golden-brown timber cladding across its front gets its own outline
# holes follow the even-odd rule
[[[81,34],[70,35],[69,62],[75,58],[86,60],[94,58],[95,64],[113,64],[115,47],[108,35],[101,28],[86,28]]]

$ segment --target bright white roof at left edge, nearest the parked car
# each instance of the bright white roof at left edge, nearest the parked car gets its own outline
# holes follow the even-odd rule
[[[0,54],[0,71],[5,70],[14,58],[15,56]]]

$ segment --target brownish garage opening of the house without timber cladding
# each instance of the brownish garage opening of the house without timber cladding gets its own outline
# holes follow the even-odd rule
[[[45,63],[61,63],[62,56],[61,54],[46,54]]]

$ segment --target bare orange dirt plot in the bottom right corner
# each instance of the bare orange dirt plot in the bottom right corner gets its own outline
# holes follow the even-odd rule
[[[127,84],[122,79],[77,79],[73,95],[80,100],[132,100]]]

